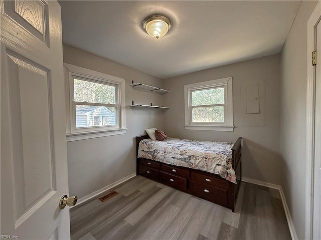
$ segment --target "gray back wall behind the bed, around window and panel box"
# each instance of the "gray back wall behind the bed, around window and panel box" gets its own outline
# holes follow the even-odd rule
[[[185,130],[184,85],[233,77],[234,132]],[[165,105],[164,129],[171,137],[195,140],[233,141],[244,138],[243,177],[280,184],[280,55],[263,57],[164,80],[170,90]],[[261,84],[261,113],[247,115],[244,94],[246,84]],[[265,95],[265,96],[264,96]],[[250,125],[250,126],[244,126]],[[259,126],[254,126],[259,125]]]

